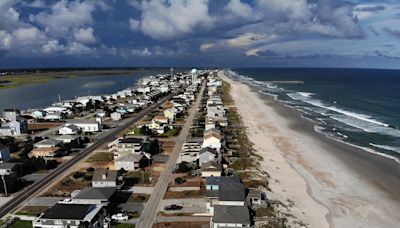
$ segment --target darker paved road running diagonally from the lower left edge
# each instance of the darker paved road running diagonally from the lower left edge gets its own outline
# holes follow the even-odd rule
[[[137,121],[142,119],[145,115],[149,114],[153,110],[156,110],[164,102],[171,99],[173,96],[174,96],[174,94],[170,94],[167,97],[162,98],[158,103],[141,111],[137,116],[134,116],[132,118],[128,118],[128,119],[121,121],[121,125],[118,126],[117,128],[114,128],[112,130],[109,130],[109,131],[101,134],[101,136],[91,146],[80,151],[79,154],[76,155],[75,157],[73,157],[71,160],[60,165],[59,167],[54,169],[51,173],[46,175],[41,180],[39,180],[39,181],[33,183],[32,185],[30,185],[29,187],[25,188],[18,195],[16,195],[13,200],[5,203],[2,207],[0,207],[0,218],[3,218],[8,213],[13,212],[16,208],[18,208],[24,202],[33,198],[42,189],[44,189],[46,186],[48,186],[49,183],[56,180],[59,176],[64,174],[66,171],[68,171],[68,169],[71,168],[73,165],[75,165],[77,162],[83,160],[87,155],[89,155],[91,152],[93,152],[95,149],[100,147],[105,142],[114,140],[115,136],[118,133],[120,133],[121,131],[130,127],[132,124],[136,123]]]

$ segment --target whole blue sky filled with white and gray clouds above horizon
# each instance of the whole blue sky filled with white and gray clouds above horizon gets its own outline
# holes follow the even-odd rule
[[[399,0],[0,0],[0,68],[400,68]]]

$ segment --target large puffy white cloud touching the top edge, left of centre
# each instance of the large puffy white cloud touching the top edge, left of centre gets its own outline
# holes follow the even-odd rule
[[[141,10],[141,31],[153,39],[178,38],[213,25],[208,0],[142,1],[134,7]]]

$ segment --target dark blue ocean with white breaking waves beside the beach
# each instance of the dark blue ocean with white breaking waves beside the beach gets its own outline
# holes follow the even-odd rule
[[[398,70],[242,68],[228,73],[298,109],[315,123],[316,131],[330,138],[400,158]]]

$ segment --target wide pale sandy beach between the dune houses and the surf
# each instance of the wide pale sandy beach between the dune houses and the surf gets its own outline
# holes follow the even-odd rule
[[[328,139],[300,112],[218,75],[231,84],[261,168],[271,176],[271,195],[292,204],[289,213],[308,227],[400,226],[397,163]]]

